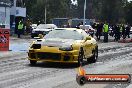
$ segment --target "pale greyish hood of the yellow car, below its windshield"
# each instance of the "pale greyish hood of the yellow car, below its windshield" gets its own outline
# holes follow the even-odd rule
[[[51,38],[51,39],[44,39],[42,41],[37,41],[36,43],[49,47],[69,47],[75,42],[76,40],[73,39]]]

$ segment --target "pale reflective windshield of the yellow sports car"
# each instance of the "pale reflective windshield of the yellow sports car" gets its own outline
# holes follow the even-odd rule
[[[49,34],[47,34],[45,39],[48,38],[61,38],[61,39],[74,39],[74,40],[82,40],[84,36],[77,32],[76,30],[63,30],[63,29],[57,29],[54,31],[51,31]]]

